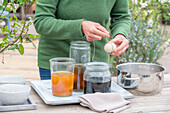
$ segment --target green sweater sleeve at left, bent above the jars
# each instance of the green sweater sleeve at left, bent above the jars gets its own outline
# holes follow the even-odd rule
[[[81,23],[83,19],[57,19],[57,5],[59,0],[38,0],[34,16],[34,26],[42,36],[57,39],[82,39]]]

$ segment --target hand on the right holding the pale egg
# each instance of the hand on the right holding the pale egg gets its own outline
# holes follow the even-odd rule
[[[129,47],[129,41],[121,34],[116,35],[110,42],[116,44],[116,49],[110,55],[119,56]]]

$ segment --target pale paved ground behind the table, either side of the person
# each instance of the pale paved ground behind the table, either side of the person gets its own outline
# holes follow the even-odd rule
[[[166,29],[170,31],[170,26]],[[33,25],[30,26],[29,33],[37,34]],[[35,40],[34,43],[38,47],[38,40]],[[39,79],[37,48],[26,42],[24,42],[24,48],[24,55],[20,55],[17,50],[6,51],[4,64],[1,63],[3,54],[0,54],[0,75],[20,75],[25,76],[28,80]],[[165,54],[159,59],[159,63],[166,68],[165,73],[170,74],[170,47],[166,49]]]

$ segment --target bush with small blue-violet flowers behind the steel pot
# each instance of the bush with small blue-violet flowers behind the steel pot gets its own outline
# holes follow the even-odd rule
[[[143,0],[145,1],[145,0]],[[153,2],[154,0],[150,0]],[[139,0],[137,0],[139,3]],[[145,1],[146,2],[146,1]],[[111,56],[110,63],[113,65],[113,72],[117,75],[116,66],[127,62],[158,63],[164,50],[170,47],[170,39],[165,25],[160,24],[160,14],[153,15],[154,10],[148,10],[149,6],[142,7],[139,4],[130,2],[131,28],[129,32],[129,48],[120,56]]]

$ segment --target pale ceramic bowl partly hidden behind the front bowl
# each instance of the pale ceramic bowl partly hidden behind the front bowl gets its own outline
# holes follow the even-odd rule
[[[18,75],[0,75],[1,84],[25,84],[26,78]]]

